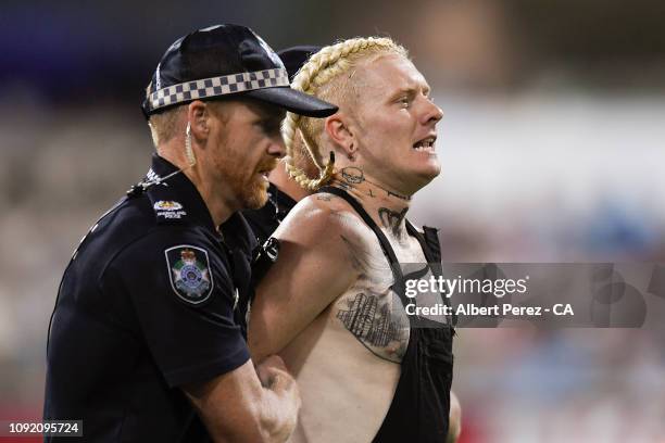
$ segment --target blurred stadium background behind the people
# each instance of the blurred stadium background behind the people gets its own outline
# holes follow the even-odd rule
[[[40,417],[63,269],[149,165],[152,69],[221,22],[275,49],[381,34],[411,50],[446,113],[443,173],[412,219],[441,227],[446,261],[665,262],[660,0],[5,0],[0,420]],[[662,328],[464,329],[455,347],[463,443],[665,442]]]

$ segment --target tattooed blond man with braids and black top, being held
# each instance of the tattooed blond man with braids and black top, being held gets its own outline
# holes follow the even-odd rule
[[[326,47],[293,84],[339,111],[318,123],[288,114],[283,126],[287,154],[301,137],[321,173],[289,174],[318,192],[274,236],[280,255],[252,305],[252,355],[279,353],[299,383],[294,442],[444,442],[453,330],[406,315],[399,267],[440,258],[436,231],[405,215],[440,172],[442,112],[387,38]]]

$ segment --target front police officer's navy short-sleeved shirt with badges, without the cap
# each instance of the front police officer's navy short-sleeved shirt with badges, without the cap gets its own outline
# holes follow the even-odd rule
[[[81,241],[59,291],[45,419],[83,419],[85,441],[209,441],[178,387],[249,359],[244,313],[254,237],[219,231],[196,187],[154,155],[152,182]],[[55,439],[53,439],[55,440]]]

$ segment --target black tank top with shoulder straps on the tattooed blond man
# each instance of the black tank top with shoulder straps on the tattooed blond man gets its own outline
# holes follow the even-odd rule
[[[392,290],[404,306],[412,303],[405,295],[405,277],[394,251],[369,214],[353,197],[339,188],[324,187],[319,192],[344,199],[374,231],[392,269]],[[423,229],[424,235],[406,221],[406,231],[421,243],[427,262],[438,264],[441,261],[441,250],[436,229]],[[431,271],[440,275],[440,267],[435,266]],[[400,379],[374,443],[441,443],[448,435],[454,329],[450,324],[439,324],[417,316],[409,316],[409,320],[411,333],[402,358]]]

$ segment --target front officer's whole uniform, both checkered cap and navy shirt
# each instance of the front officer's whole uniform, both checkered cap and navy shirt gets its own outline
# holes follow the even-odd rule
[[[291,89],[277,54],[231,24],[171,45],[141,109],[150,118],[224,97],[311,117],[337,111]],[[210,441],[179,388],[249,360],[256,246],[239,213],[216,228],[196,186],[155,155],[143,182],[90,229],[65,270],[49,328],[45,419],[83,420],[90,442]]]

